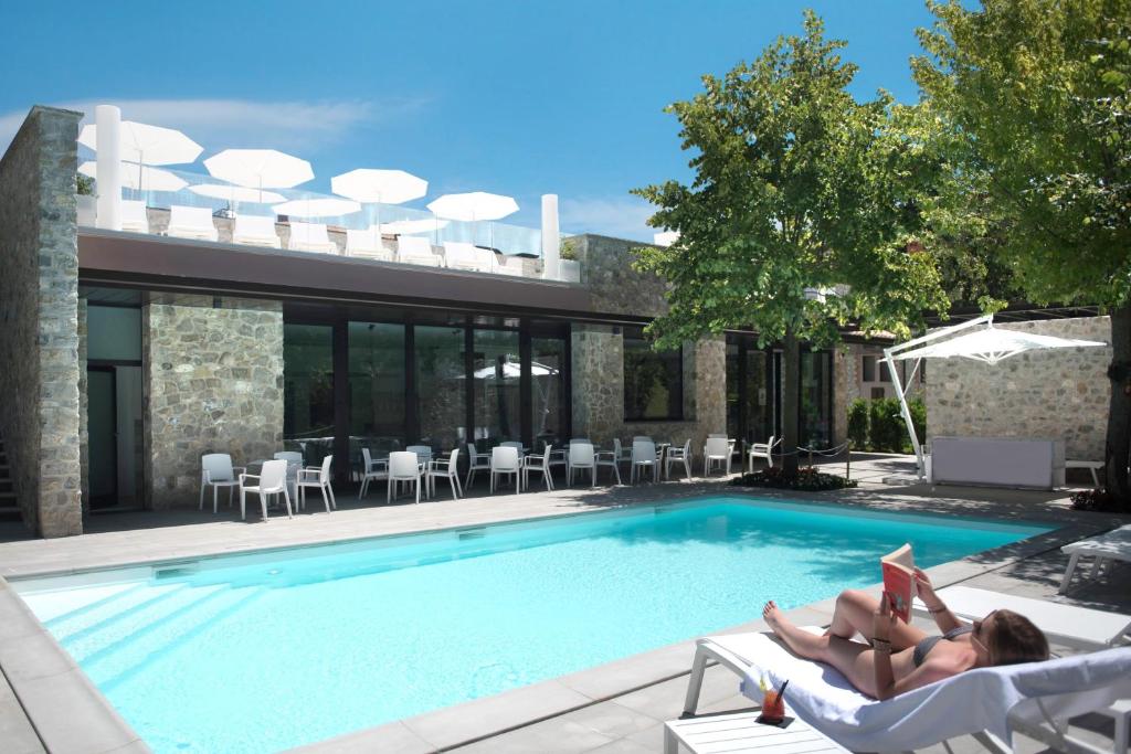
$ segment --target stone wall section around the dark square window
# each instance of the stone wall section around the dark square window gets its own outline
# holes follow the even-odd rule
[[[694,453],[708,434],[726,432],[726,345],[722,338],[683,348],[682,422],[624,421],[624,339],[620,328],[575,324],[572,328],[573,435],[612,448],[633,435],[682,444]]]

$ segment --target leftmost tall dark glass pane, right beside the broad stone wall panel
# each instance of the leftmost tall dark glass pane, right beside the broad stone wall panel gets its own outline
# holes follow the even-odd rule
[[[283,439],[305,465],[334,452],[334,328],[283,326]]]

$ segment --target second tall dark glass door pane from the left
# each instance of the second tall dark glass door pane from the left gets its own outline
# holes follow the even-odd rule
[[[349,322],[349,467],[405,447],[405,326]]]

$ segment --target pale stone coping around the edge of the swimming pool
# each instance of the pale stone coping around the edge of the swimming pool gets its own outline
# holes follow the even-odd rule
[[[768,497],[776,501],[793,501],[797,503],[815,503],[815,504],[828,504],[828,505],[846,505],[853,509],[862,510],[875,510],[877,503],[884,502],[882,497],[873,500],[828,500],[822,499],[818,495],[806,497],[798,497],[791,494],[767,494],[768,491],[751,491],[744,488],[735,489],[723,489],[717,492],[707,493],[705,491],[688,491],[685,496],[676,496],[674,499],[666,499],[662,501],[651,502],[624,502],[619,504],[610,505],[594,505],[589,510],[577,510],[570,509],[567,511],[551,511],[543,515],[527,515],[518,519],[502,519],[485,522],[483,526],[491,525],[503,525],[513,523],[520,521],[537,521],[544,519],[555,519],[563,517],[571,517],[584,514],[587,512],[597,511],[608,511],[619,509],[629,509],[634,506],[646,508],[655,506],[657,504],[671,504],[679,502],[689,502],[691,499],[697,496],[710,495],[715,497]],[[930,511],[915,511],[915,501],[899,501],[898,510],[903,512],[918,512],[920,514],[931,514]],[[1012,508],[1012,504],[1009,504]],[[908,510],[910,509],[910,510]],[[898,511],[891,511],[898,512]],[[1041,510],[1034,511],[1034,517],[1027,519],[1029,521],[1042,520],[1043,517],[1050,515],[1050,511]],[[986,518],[994,521],[1008,522],[1007,517],[994,515],[992,512],[978,513],[977,518]],[[1073,517],[1074,518],[1074,517]],[[1016,547],[1018,544],[1021,545],[1019,551],[1008,557],[990,561],[985,563],[973,562],[973,555],[959,558],[957,561],[950,561],[948,563],[942,563],[936,566],[927,569],[927,572],[932,575],[936,573],[942,574],[942,579],[938,580],[938,586],[940,588],[966,581],[976,575],[998,570],[1005,565],[1016,563],[1026,557],[1037,555],[1043,552],[1047,552],[1054,547],[1067,544],[1068,541],[1074,541],[1076,539],[1088,536],[1093,531],[1100,528],[1102,525],[1097,522],[1096,526],[1086,526],[1078,521],[1064,521],[1063,526],[1056,526],[1056,521],[1046,519],[1047,522],[1053,526],[1050,531],[1044,534],[1028,537],[1020,540],[1020,543],[1012,543],[1009,545],[1003,545],[1000,547],[992,548],[990,551],[984,551],[979,555],[986,555],[987,553],[995,553],[999,549]],[[343,539],[333,539],[323,541],[312,541],[305,545],[287,545],[282,547],[249,547],[241,551],[225,551],[223,553],[210,553],[206,555],[200,555],[196,560],[204,560],[206,557],[221,557],[224,555],[244,555],[251,553],[268,553],[279,549],[294,549],[296,547],[317,547],[325,546],[334,543],[349,543],[366,539],[380,539],[386,537],[405,536],[408,534],[435,534],[444,530],[457,530],[466,528],[466,525],[455,526],[455,527],[434,527],[430,529],[416,529],[412,531],[397,531],[386,535],[369,535],[364,537],[347,537]],[[68,575],[75,573],[98,571],[98,570],[110,570],[110,569],[122,569],[122,567],[135,567],[135,566],[153,566],[161,563],[176,563],[183,562],[185,558],[182,557],[170,557],[170,558],[150,558],[146,561],[130,561],[123,563],[115,563],[112,565],[102,565],[98,567],[86,567],[86,569],[58,569],[48,572],[31,572],[16,577],[17,580],[32,579],[32,578],[44,578],[50,575]],[[946,570],[957,571],[957,573],[948,573]],[[878,589],[880,584],[874,584],[869,587],[869,589]],[[812,623],[813,614],[819,613],[823,616],[831,617],[831,603],[834,600],[826,599],[819,600],[817,603],[811,603],[804,606],[793,608],[787,612],[787,615],[801,617],[802,621]],[[41,743],[48,751],[81,751],[90,752],[92,754],[102,754],[103,752],[149,752],[152,751],[148,745],[140,738],[140,736],[133,730],[133,728],[120,716],[116,709],[110,703],[105,695],[94,685],[93,681],[81,670],[81,668],[74,661],[70,655],[55,641],[54,636],[43,626],[43,624],[35,617],[31,612],[31,608],[24,603],[23,598],[16,592],[11,587],[8,579],[0,574],[0,616],[8,618],[7,621],[0,621],[0,673],[3,673],[8,683],[10,684],[12,692],[16,694],[17,700],[24,709],[28,721],[32,723],[36,736],[38,736]],[[717,632],[716,634],[728,634],[728,633],[741,633],[743,631],[752,630],[763,630],[765,624],[761,621],[754,621],[751,623],[740,624],[737,626],[732,626]],[[631,655],[625,658],[620,658],[611,662],[605,662],[592,668],[585,668],[572,674],[567,674],[564,676],[558,676],[555,678],[549,678],[541,681],[535,684],[527,686],[520,686],[518,688],[512,688],[500,694],[494,694],[491,696],[485,696],[477,700],[470,700],[460,704],[449,705],[433,710],[431,712],[425,712],[418,716],[413,716],[408,718],[403,718],[400,720],[382,723],[379,726],[363,728],[360,730],[354,730],[349,733],[342,734],[331,738],[327,738],[320,742],[314,742],[311,744],[304,744],[290,751],[303,751],[303,752],[329,752],[338,751],[345,744],[362,745],[364,747],[378,745],[382,740],[388,740],[391,735],[404,736],[405,733],[411,735],[413,738],[418,739],[424,744],[424,748],[421,751],[448,751],[456,748],[458,746],[465,746],[475,742],[480,742],[486,738],[491,738],[497,735],[501,735],[511,730],[516,730],[550,718],[559,717],[573,712],[576,710],[585,709],[593,704],[597,704],[604,701],[610,701],[618,696],[646,688],[648,686],[655,685],[657,683],[663,683],[665,681],[671,681],[680,676],[688,675],[691,668],[691,652],[694,648],[696,639],[676,642],[675,644],[668,644],[661,647],[647,652],[640,652],[637,655]],[[25,643],[32,643],[33,648],[29,653],[25,657],[18,658],[14,661],[14,649],[23,647]],[[26,648],[25,648],[26,649]],[[601,676],[607,676],[611,674],[620,674],[625,668],[631,669],[633,665],[647,666],[651,668],[655,665],[663,667],[665,664],[670,668],[675,666],[671,665],[672,658],[677,655],[684,655],[685,660],[683,660],[679,667],[682,669],[673,671],[672,669],[665,670],[663,674],[656,674],[653,671],[644,677],[639,683],[632,683],[627,687],[611,687],[604,693],[589,695],[582,691],[579,691],[576,686],[586,685],[585,682],[588,681],[590,684],[594,678],[599,678]],[[667,656],[666,658],[664,656]],[[28,673],[27,669],[20,671],[21,666],[40,666],[41,668],[54,668],[54,671],[40,670],[38,673]],[[15,668],[15,671],[14,671]],[[37,686],[50,685],[54,692],[51,695],[44,695],[42,692],[37,693]],[[594,685],[602,685],[599,683]],[[62,692],[62,693],[60,693]],[[537,700],[539,696],[549,696],[551,700],[568,699],[567,703],[535,703],[534,707],[537,708],[537,712],[527,716],[516,716],[515,709],[517,703],[526,703],[530,705],[532,700]],[[67,700],[68,704],[60,705],[59,700],[63,697]],[[469,716],[468,712],[472,708],[475,708],[474,714]],[[438,728],[446,733],[451,731],[451,722],[448,718],[451,717],[474,717],[477,723],[486,722],[486,725],[480,725],[478,729],[475,726],[470,726],[470,730],[465,730],[465,733],[458,736],[451,736],[450,740],[444,742],[442,738],[440,740],[433,740],[437,738],[437,733],[430,730],[430,728]],[[491,723],[490,719],[501,718],[506,720],[504,725]],[[93,726],[87,726],[81,728],[80,739],[84,744],[81,747],[75,746],[63,746],[60,747],[59,744],[53,744],[53,742],[69,742],[75,739],[77,729],[80,727],[76,723],[76,719],[83,720],[84,722],[94,723]],[[466,728],[466,726],[465,726]],[[422,735],[428,734],[428,736]],[[100,738],[102,736],[102,738]],[[100,742],[110,742],[111,745],[103,746]]]

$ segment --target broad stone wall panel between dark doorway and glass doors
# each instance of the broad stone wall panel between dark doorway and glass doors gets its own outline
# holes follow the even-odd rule
[[[283,449],[282,304],[154,295],[141,338],[147,506],[197,505],[205,453]]]

